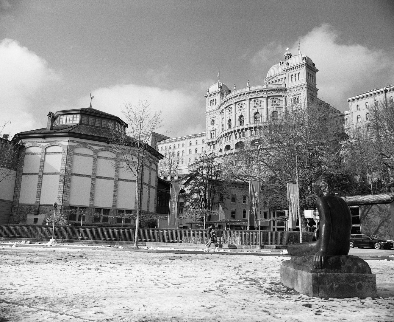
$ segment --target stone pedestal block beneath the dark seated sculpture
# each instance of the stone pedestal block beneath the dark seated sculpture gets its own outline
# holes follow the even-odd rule
[[[281,283],[319,298],[376,298],[376,275],[357,256],[329,256],[322,270],[313,256],[293,256],[281,264]]]

